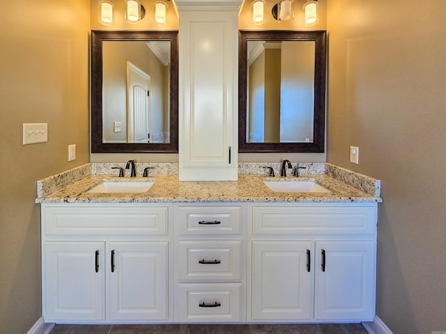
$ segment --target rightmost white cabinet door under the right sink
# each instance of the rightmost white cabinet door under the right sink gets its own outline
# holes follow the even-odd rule
[[[374,241],[316,241],[315,319],[373,320],[375,258]]]

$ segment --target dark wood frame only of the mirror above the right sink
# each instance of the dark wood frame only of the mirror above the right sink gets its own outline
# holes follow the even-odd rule
[[[247,42],[248,40],[304,40],[316,45],[314,68],[313,143],[247,143]],[[325,148],[326,31],[239,31],[238,39],[238,152],[310,152]]]

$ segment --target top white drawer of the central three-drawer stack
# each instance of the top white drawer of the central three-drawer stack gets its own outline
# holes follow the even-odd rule
[[[239,234],[241,206],[175,208],[178,234]]]

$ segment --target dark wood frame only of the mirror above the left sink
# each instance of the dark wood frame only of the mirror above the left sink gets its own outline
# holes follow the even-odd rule
[[[171,42],[170,143],[102,143],[102,42]],[[91,152],[178,153],[178,31],[91,31]]]

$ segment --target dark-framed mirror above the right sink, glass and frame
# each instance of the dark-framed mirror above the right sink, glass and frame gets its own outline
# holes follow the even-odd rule
[[[325,31],[240,31],[238,151],[324,152]]]

